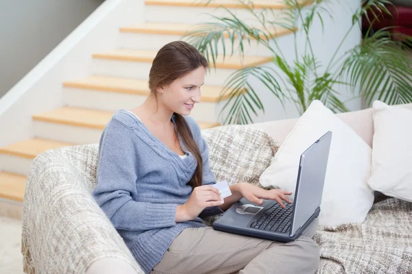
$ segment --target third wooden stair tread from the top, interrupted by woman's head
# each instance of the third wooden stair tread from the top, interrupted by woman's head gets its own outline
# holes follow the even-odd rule
[[[116,49],[114,51],[108,51],[106,53],[95,53],[93,58],[106,59],[106,60],[122,60],[130,62],[148,62],[152,63],[157,51],[141,51],[136,49]],[[259,57],[259,56],[244,56],[243,60],[240,60],[238,55],[226,55],[223,62],[223,55],[218,55],[216,58],[216,68],[220,69],[242,69],[243,67],[258,66],[271,62],[271,57]]]

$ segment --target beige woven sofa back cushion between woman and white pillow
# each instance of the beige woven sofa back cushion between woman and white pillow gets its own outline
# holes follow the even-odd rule
[[[277,142],[262,129],[227,125],[202,130],[209,146],[209,162],[216,181],[248,182],[260,186],[259,177],[271,164]]]

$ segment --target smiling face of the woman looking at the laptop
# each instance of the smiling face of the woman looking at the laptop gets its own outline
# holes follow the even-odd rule
[[[161,101],[171,112],[189,115],[194,105],[201,102],[201,86],[205,82],[206,69],[200,66],[168,86],[158,88]]]

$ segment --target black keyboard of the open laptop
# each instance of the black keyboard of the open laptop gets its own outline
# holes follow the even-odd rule
[[[279,203],[275,203],[262,214],[260,219],[253,221],[251,227],[271,232],[287,232],[292,218],[293,203],[285,206],[286,208],[282,208]]]

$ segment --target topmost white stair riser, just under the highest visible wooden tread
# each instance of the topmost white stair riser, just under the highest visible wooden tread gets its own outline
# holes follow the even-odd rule
[[[173,12],[170,12],[173,10]],[[240,20],[249,25],[261,25],[259,20],[245,9],[231,8],[229,9]],[[257,10],[260,12],[261,10]],[[214,16],[232,18],[226,10],[222,8],[202,8],[202,7],[179,7],[179,6],[161,6],[161,5],[146,5],[144,10],[144,20],[146,22],[163,22],[163,23],[205,23],[216,22],[210,14]],[[268,14],[268,13],[266,13]],[[271,14],[271,13],[269,13]],[[275,21],[280,18],[282,10],[273,10],[273,16],[266,18],[267,20]],[[270,18],[270,19],[269,19]]]

